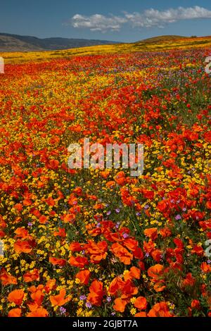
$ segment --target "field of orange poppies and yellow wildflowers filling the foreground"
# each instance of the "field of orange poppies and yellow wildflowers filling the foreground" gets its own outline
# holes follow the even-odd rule
[[[210,48],[60,53],[4,54],[0,315],[211,316]],[[68,168],[84,137],[143,175]]]

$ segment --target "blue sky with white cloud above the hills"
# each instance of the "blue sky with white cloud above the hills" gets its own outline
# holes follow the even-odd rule
[[[6,0],[0,32],[135,42],[157,35],[211,35],[211,1]]]

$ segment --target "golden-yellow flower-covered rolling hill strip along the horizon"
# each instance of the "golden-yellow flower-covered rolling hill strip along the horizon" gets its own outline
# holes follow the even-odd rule
[[[1,36],[0,36],[1,37]],[[13,39],[11,39],[13,40]],[[23,42],[23,47],[32,47],[32,44]],[[145,39],[139,42],[130,44],[101,44],[95,46],[79,46],[71,49],[57,49],[41,51],[39,45],[34,51],[1,51],[0,56],[5,60],[5,63],[20,63],[28,61],[46,61],[54,58],[70,58],[72,56],[91,56],[96,54],[117,54],[130,52],[151,52],[151,51],[170,51],[182,49],[199,49],[205,48],[207,52],[211,49],[211,36],[208,37],[179,37],[179,36],[160,36],[150,39]],[[208,53],[209,54],[209,53]]]

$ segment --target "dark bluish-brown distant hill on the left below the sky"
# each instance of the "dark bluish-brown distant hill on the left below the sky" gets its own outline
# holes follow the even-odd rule
[[[72,49],[84,46],[118,44],[108,40],[44,38],[0,33],[0,51],[51,51]]]

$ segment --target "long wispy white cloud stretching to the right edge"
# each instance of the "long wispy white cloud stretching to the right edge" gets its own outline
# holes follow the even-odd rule
[[[178,20],[192,20],[196,18],[211,18],[211,11],[206,8],[178,7],[165,11],[148,9],[141,13],[123,13],[122,16],[94,14],[85,16],[76,14],[70,24],[76,28],[88,28],[91,31],[119,31],[124,24],[132,27],[164,27],[166,24],[177,22]]]

